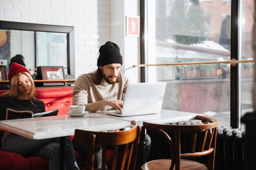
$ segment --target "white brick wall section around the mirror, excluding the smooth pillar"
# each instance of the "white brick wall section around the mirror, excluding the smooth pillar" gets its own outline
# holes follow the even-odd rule
[[[75,78],[97,68],[111,38],[110,0],[0,0],[0,20],[74,26]]]

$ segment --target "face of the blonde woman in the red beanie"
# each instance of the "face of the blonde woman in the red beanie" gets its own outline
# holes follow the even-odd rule
[[[29,81],[29,78],[21,74],[18,77],[18,93],[19,95],[27,95],[31,89],[31,82]]]

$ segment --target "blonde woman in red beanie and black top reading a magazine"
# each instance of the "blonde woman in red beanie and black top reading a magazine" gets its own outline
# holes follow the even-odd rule
[[[5,120],[6,109],[29,110],[33,113],[45,112],[45,104],[34,98],[35,85],[30,72],[24,66],[13,63],[8,73],[10,90],[0,97],[0,120]],[[11,132],[1,137],[2,150],[15,152],[23,157],[38,156],[49,159],[49,170],[59,169],[59,139],[27,139]],[[78,170],[70,137],[65,138],[67,170]]]

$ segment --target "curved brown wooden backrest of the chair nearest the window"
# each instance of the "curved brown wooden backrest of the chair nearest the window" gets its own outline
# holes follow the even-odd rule
[[[204,155],[209,155],[208,168],[209,170],[214,169],[214,159],[215,159],[215,147],[216,147],[216,137],[217,137],[217,126],[218,121],[216,119],[197,115],[195,117],[195,122],[198,124],[191,125],[176,125],[176,124],[154,124],[150,122],[143,122],[143,126],[149,130],[153,130],[161,133],[167,139],[168,144],[171,148],[171,167],[170,170],[180,170],[180,159],[201,157]],[[165,130],[174,131],[174,139],[166,133]],[[181,141],[180,132],[190,131],[191,141],[185,141],[186,145],[191,144],[189,147],[189,152],[181,153]],[[200,137],[199,137],[200,134]],[[183,144],[183,143],[182,143]],[[187,148],[187,147],[186,147]]]

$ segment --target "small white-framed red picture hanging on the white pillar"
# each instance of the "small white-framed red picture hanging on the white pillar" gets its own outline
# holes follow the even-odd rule
[[[139,16],[126,16],[126,36],[139,37]]]

